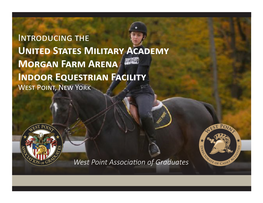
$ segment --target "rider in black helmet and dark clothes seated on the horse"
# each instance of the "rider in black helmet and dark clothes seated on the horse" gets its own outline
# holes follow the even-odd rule
[[[131,76],[145,75],[145,79],[142,80],[137,77],[137,80],[127,80],[127,86],[114,98],[118,101],[122,101],[125,96],[134,98],[138,105],[138,112],[141,119],[142,127],[149,138],[149,153],[151,157],[155,157],[160,154],[159,147],[156,145],[155,140],[155,128],[152,116],[152,106],[154,102],[154,91],[149,85],[149,69],[152,61],[150,54],[145,54],[143,40],[147,36],[147,27],[142,22],[134,22],[131,24],[130,39],[133,44],[133,50],[136,53],[125,53],[121,59],[121,64],[117,75],[122,76],[124,73]],[[116,79],[111,83],[106,94],[111,95],[114,88],[120,83],[120,80]]]

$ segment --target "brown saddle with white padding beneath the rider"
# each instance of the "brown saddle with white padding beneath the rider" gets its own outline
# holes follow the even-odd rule
[[[136,121],[136,123],[138,125],[141,125],[140,116],[138,113],[138,107],[137,107],[135,99],[132,97],[125,97],[123,102],[124,102],[128,112],[129,112],[129,114],[133,117],[133,119]],[[162,108],[162,106],[163,106],[163,103],[161,101],[157,100],[157,95],[155,94],[154,95],[154,102],[153,102],[153,106],[152,106],[152,112]]]

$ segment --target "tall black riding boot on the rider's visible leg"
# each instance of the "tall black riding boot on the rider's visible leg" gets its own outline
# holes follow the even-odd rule
[[[149,140],[149,147],[148,147],[149,154],[152,158],[156,157],[159,154],[161,154],[161,152],[155,140],[155,129],[153,124],[153,119],[151,117],[148,117],[148,118],[143,118],[141,121],[142,121],[143,129]]]

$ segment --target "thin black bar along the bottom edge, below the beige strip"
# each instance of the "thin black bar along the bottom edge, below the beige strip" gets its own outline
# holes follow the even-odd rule
[[[13,186],[13,191],[251,191],[251,186]]]

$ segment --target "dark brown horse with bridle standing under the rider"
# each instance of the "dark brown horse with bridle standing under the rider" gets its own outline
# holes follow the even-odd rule
[[[114,103],[112,98],[99,90],[54,90],[51,111],[53,125],[63,140],[69,127],[79,118],[86,127],[86,152],[90,161],[89,173],[103,174],[111,161],[150,160],[147,144],[141,144],[140,127],[129,116],[122,102]],[[172,123],[156,130],[157,144],[161,150],[155,160],[166,160],[176,156],[186,160],[181,165],[184,174],[212,174],[212,169],[199,152],[199,138],[212,124],[218,123],[210,104],[187,98],[170,98],[163,101],[172,116]],[[147,140],[145,141],[147,142]],[[97,161],[97,164],[95,162]],[[133,165],[115,166],[121,174],[133,173]]]

